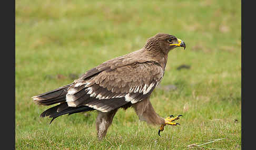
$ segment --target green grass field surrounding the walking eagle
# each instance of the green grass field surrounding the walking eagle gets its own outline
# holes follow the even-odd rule
[[[16,1],[16,149],[241,149],[241,1]],[[168,33],[186,49],[169,53],[151,102],[181,126],[148,126],[133,109],[119,110],[97,141],[96,112],[51,119],[32,96],[71,83],[73,76],[143,47]],[[177,70],[180,65],[190,69]]]

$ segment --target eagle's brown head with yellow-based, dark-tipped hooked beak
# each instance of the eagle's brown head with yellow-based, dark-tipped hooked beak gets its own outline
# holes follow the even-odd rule
[[[176,47],[186,47],[185,42],[169,34],[156,34],[155,36],[147,39],[144,46],[147,50],[161,50],[168,53]]]

